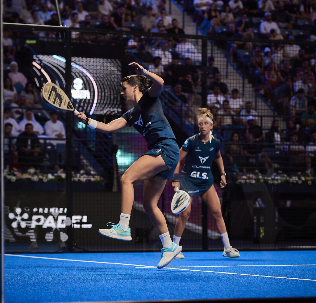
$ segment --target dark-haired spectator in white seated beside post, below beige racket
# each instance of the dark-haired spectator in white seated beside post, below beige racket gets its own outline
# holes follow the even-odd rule
[[[50,113],[50,120],[44,124],[45,134],[52,139],[65,139],[66,130],[63,122],[58,120],[58,111],[54,110]],[[65,140],[47,140],[47,143],[52,143],[55,146],[57,144],[65,144]]]

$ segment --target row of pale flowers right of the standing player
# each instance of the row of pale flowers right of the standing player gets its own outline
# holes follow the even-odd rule
[[[258,183],[269,183],[269,184],[281,184],[281,183],[296,183],[296,184],[307,184],[316,185],[316,177],[304,176],[301,173],[297,175],[288,176],[286,174],[274,173],[272,175],[261,175],[260,173],[255,174],[239,174],[236,180],[237,184],[258,184]]]

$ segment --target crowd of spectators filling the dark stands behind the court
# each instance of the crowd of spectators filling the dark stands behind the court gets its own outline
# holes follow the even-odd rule
[[[266,144],[270,143],[273,148],[281,148],[289,154],[291,149],[286,148],[286,144],[287,146],[296,145],[296,142],[299,142],[305,150],[304,157],[301,157],[304,161],[300,163],[304,162],[309,171],[313,168],[315,161],[313,161],[314,156],[312,157],[313,144],[311,143],[315,141],[316,123],[316,51],[309,45],[299,46],[293,41],[316,40],[314,25],[316,1],[193,1],[194,7],[200,12],[195,17],[197,24],[202,20],[208,20],[211,25],[209,33],[225,34],[229,38],[271,40],[267,40],[266,43],[235,41],[230,42],[229,47],[225,46],[225,49],[228,59],[232,61],[238,60],[239,52],[242,50],[250,53],[247,57],[248,61],[243,62],[247,65],[249,81],[252,82],[255,90],[261,93],[265,101],[274,107],[280,119],[286,119],[289,126],[286,134],[278,130],[275,132],[278,135],[275,136],[271,135],[273,129],[277,129],[275,126],[271,126],[271,129],[266,132],[270,135],[266,136],[264,131],[259,129],[261,117],[253,109],[252,102],[243,100],[236,87],[228,87],[222,80],[220,69],[216,67],[213,57],[208,58],[206,67],[201,67],[202,52],[192,41],[184,38],[154,36],[148,39],[144,36],[133,35],[134,30],[151,33],[185,33],[179,28],[178,20],[167,14],[165,0],[100,0],[98,2],[96,0],[60,0],[58,3],[64,26],[131,31],[125,43],[124,60],[137,60],[149,71],[159,74],[164,79],[165,86],[176,99],[175,108],[185,105],[185,108],[189,109],[186,110],[185,123],[196,122],[195,109],[202,105],[202,71],[206,71],[206,104],[216,116],[216,132],[225,142],[232,144],[231,147],[227,145],[229,159],[234,159],[234,152],[240,149],[240,147],[234,147],[238,141],[243,149],[244,163],[252,163],[255,159],[257,164],[261,163],[267,172],[271,172],[275,167],[269,154],[264,151]],[[55,3],[49,0],[5,0],[3,20],[15,23],[59,25]],[[219,29],[223,27],[226,27],[226,30],[220,31]],[[298,30],[300,33],[297,33]],[[39,39],[60,39],[60,35],[55,32],[33,31],[30,34],[38,36]],[[72,38],[81,41],[95,39],[104,42],[122,39],[119,35],[112,33],[104,35],[98,32],[76,31],[72,32]],[[10,72],[4,80],[4,100],[12,109],[10,119],[21,124],[20,126],[13,120],[6,121],[10,124],[7,125],[7,132],[9,133],[11,127],[11,135],[20,136],[26,134],[26,127],[30,128],[29,124],[32,124],[32,134],[35,136],[46,135],[62,139],[64,133],[59,123],[57,126],[54,115],[51,116],[51,120],[46,117],[50,123],[40,117],[39,124],[43,128],[44,123],[48,123],[51,128],[56,128],[55,133],[47,131],[45,127],[42,131],[35,123],[36,109],[41,107],[41,103],[32,78],[26,72],[20,72],[16,62],[20,63],[16,60],[20,39],[18,31],[5,29],[3,32],[3,60],[10,66]],[[272,40],[282,39],[289,40],[292,44],[272,43]],[[127,75],[131,73],[131,70],[127,68],[123,70],[123,76],[125,76],[124,73]],[[27,110],[29,108],[32,109],[32,114]],[[30,115],[32,117],[29,119]],[[22,121],[24,124],[21,123]],[[60,121],[57,120],[57,122]],[[291,130],[292,124],[298,127]],[[293,134],[297,135],[297,130],[300,135],[295,141]],[[280,140],[276,145],[271,143],[271,138]],[[31,150],[35,152],[35,148]],[[294,152],[293,149],[291,152]],[[35,153],[37,154],[37,151]],[[16,161],[19,155],[12,152],[12,159]],[[245,167],[245,165],[242,166]]]

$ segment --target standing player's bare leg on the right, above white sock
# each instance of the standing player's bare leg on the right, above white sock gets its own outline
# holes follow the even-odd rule
[[[226,225],[222,216],[221,202],[218,199],[214,185],[212,185],[203,195],[203,201],[208,205],[215,224],[220,234],[226,233]]]

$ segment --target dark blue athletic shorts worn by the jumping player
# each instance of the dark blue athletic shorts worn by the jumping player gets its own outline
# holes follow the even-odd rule
[[[180,150],[177,142],[173,139],[163,139],[155,144],[155,146],[145,155],[161,155],[168,169],[161,171],[156,176],[164,179],[171,179],[175,168],[180,159]]]

